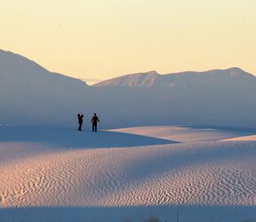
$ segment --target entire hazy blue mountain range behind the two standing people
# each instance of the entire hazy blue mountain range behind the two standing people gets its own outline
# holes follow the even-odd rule
[[[0,50],[0,123],[101,128],[184,124],[255,128],[256,77],[238,67],[123,75],[92,86]]]

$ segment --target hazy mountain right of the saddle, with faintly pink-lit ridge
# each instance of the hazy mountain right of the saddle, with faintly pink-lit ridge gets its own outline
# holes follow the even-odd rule
[[[92,88],[100,93],[100,99],[111,101],[111,106],[100,104],[98,109],[111,114],[108,120],[118,119],[116,127],[134,123],[256,125],[256,77],[237,67],[201,73],[124,75]]]

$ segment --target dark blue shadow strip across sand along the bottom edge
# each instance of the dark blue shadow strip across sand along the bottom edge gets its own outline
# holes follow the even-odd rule
[[[178,215],[179,214],[179,215]],[[255,206],[135,206],[0,208],[0,221],[225,221],[255,222]],[[178,219],[177,219],[178,218]],[[150,220],[148,220],[150,221]],[[153,221],[153,220],[152,220]]]

